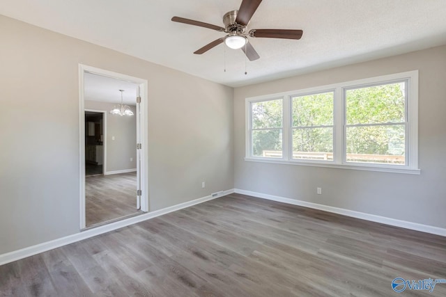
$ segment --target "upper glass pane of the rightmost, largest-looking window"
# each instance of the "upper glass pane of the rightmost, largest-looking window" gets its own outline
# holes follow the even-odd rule
[[[405,122],[406,83],[346,91],[347,125]]]

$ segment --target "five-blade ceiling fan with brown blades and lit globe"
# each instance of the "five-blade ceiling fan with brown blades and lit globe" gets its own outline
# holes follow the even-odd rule
[[[218,38],[208,43],[201,49],[194,51],[194,54],[206,53],[209,49],[220,45],[224,42],[231,49],[242,49],[249,61],[260,58],[254,47],[249,43],[250,38],[284,38],[284,39],[300,39],[302,30],[286,30],[286,29],[251,29],[247,31],[247,26],[252,15],[256,12],[262,0],[243,0],[238,10],[231,10],[223,16],[224,28],[213,24],[195,21],[194,19],[185,19],[183,17],[172,17],[173,22],[201,26],[215,31],[225,32],[228,35]]]

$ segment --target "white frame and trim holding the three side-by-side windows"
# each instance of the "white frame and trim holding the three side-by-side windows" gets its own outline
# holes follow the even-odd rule
[[[346,90],[378,86],[406,81],[406,162],[404,165],[383,163],[355,163],[346,161]],[[303,95],[334,92],[333,102],[333,161],[293,159],[291,98]],[[282,158],[252,156],[251,103],[282,99]],[[419,175],[418,168],[418,70],[388,74],[369,79],[346,81],[327,86],[293,90],[272,95],[248,97],[245,99],[245,161],[283,163],[299,166],[317,166],[395,172]]]

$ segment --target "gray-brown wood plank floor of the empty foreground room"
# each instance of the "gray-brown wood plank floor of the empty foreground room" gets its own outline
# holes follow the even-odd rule
[[[393,296],[394,278],[446,278],[446,238],[232,194],[0,275],[1,296]]]

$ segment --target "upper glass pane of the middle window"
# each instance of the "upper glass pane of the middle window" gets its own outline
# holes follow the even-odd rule
[[[333,97],[333,92],[293,97],[293,127],[333,125]]]

